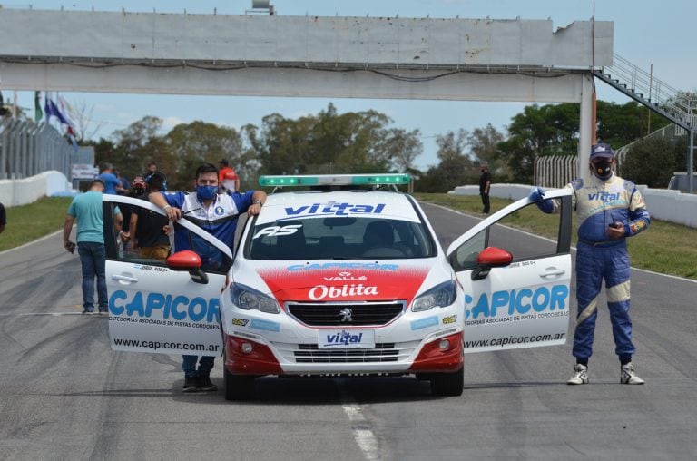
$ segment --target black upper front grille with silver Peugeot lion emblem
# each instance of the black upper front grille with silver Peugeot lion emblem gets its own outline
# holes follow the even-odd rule
[[[295,319],[312,327],[386,325],[404,311],[404,301],[287,304]]]

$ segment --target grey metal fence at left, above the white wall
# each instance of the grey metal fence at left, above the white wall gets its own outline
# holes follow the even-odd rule
[[[0,119],[0,180],[55,170],[70,178],[74,148],[47,123]]]

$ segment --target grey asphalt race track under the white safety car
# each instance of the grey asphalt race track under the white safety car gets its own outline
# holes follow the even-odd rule
[[[444,247],[476,221],[424,207]],[[588,386],[564,384],[567,344],[468,354],[461,397],[413,378],[262,378],[258,400],[227,403],[182,394],[177,356],[112,352],[56,234],[0,253],[0,458],[694,459],[697,284],[633,270],[632,290],[645,386],[618,384],[604,308]]]

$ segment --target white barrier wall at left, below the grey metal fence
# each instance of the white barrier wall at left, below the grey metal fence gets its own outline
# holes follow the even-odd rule
[[[43,172],[21,180],[0,180],[0,202],[5,207],[33,203],[44,195],[61,195],[71,191],[63,172]]]

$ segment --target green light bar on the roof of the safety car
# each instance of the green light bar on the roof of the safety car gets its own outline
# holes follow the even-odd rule
[[[408,173],[386,174],[300,174],[295,176],[260,176],[259,185],[265,187],[298,187],[298,186],[348,186],[348,185],[383,185],[408,184],[411,176]]]

